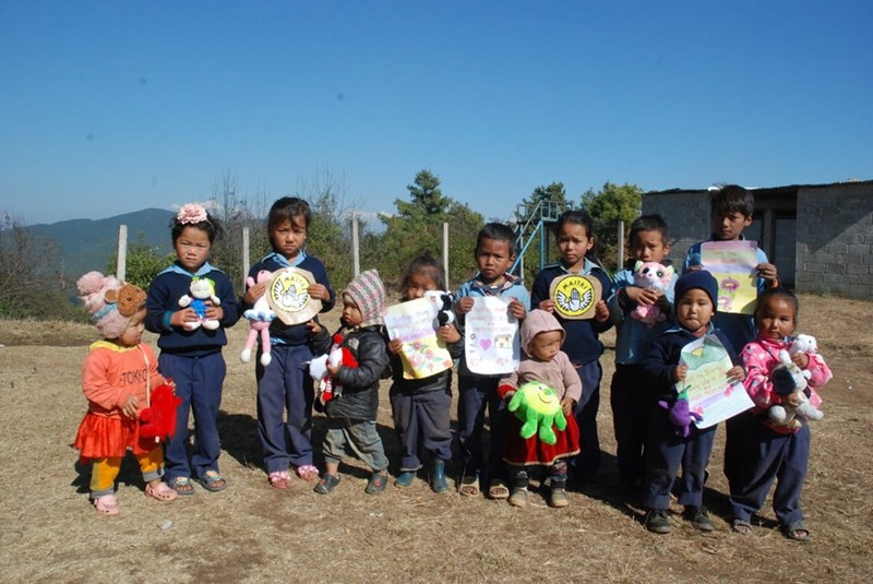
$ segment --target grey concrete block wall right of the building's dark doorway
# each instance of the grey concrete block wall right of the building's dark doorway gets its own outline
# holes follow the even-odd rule
[[[797,289],[873,299],[873,184],[798,190]]]

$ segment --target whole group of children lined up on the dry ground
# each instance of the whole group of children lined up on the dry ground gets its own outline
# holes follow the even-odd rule
[[[741,239],[743,228],[752,221],[753,206],[752,194],[745,189],[729,186],[718,191],[713,198],[711,239]],[[391,378],[388,396],[400,445],[394,485],[409,487],[426,463],[431,489],[449,491],[452,370],[424,379],[404,374],[403,344],[390,341],[384,332],[386,293],[379,274],[369,270],[356,276],[337,299],[324,265],[306,252],[310,221],[304,201],[276,201],[267,217],[273,251],[250,271],[253,278],[264,270],[307,270],[314,278],[308,293],[321,300],[321,311],[330,311],[336,302],[343,306],[338,331],[326,331],[318,317],[291,325],[276,319],[270,326],[268,366],[260,359],[264,347],[259,348],[258,432],[270,485],[288,488],[289,470],[294,470],[299,478],[315,481],[315,492],[327,494],[339,482],[343,455],[352,451],[371,469],[366,492],[382,492],[388,482],[388,460],[376,431],[376,413],[380,380]],[[97,273],[83,276],[79,283],[85,306],[104,336],[91,346],[85,360],[83,389],[89,407],[75,442],[83,460],[94,463],[91,491],[101,514],[118,513],[113,481],[128,449],[140,461],[146,494],[159,501],[192,494],[194,480],[210,491],[227,486],[218,468],[216,427],[225,377],[224,329],[232,326],[242,309],[251,308],[264,295],[267,284],[250,285],[240,300],[235,298],[227,276],[208,263],[220,227],[202,206],[184,205],[170,227],[177,261],[154,279],[147,295]],[[788,537],[809,538],[800,508],[809,428],[777,427],[766,416],[770,405],[797,400],[775,392],[770,374],[779,362],[779,350],[791,346],[798,302],[779,287],[776,267],[764,252],[758,250],[760,298],[754,319],[750,319],[718,311],[718,285],[711,274],[701,270],[699,245],[689,251],[682,275],[673,275],[666,290],[655,290],[636,286],[627,269],[609,277],[597,259],[593,222],[585,211],[563,213],[555,237],[560,261],[537,275],[528,294],[510,274],[515,260],[512,229],[487,224],[476,243],[478,272],[458,288],[455,318],[450,319],[453,322],[436,330],[457,361],[458,492],[478,496],[485,489],[490,498],[525,506],[530,473],[543,467],[547,502],[565,506],[567,484],[593,479],[600,464],[596,416],[603,347],[598,337],[615,325],[615,372],[610,395],[622,485],[642,498],[649,531],[671,529],[671,493],[684,505],[695,527],[711,531],[714,525],[702,498],[715,426],[677,432],[669,415],[677,403],[675,384],[687,370],[680,363],[682,348],[704,335],[716,335],[733,363],[726,376],[743,381],[755,404],[726,425],[725,473],[733,510],[732,529],[751,532],[752,514],[761,509],[773,480],[778,479],[774,494],[778,520]],[[669,250],[668,228],[661,217],[646,215],[633,223],[633,261],[665,263]],[[567,274],[599,281],[602,298],[594,307],[593,318],[566,319],[555,310],[550,288],[555,278]],[[214,290],[211,299],[198,307],[180,308],[179,298],[188,294],[196,278],[210,281]],[[400,286],[400,301],[445,288],[442,266],[424,253],[410,263]],[[465,318],[476,298],[482,297],[503,299],[507,317],[521,323],[523,356],[512,373],[476,373],[467,363]],[[631,318],[637,307],[654,306],[670,318],[655,325]],[[217,326],[206,326],[206,321]],[[141,343],[143,326],[159,335],[157,360]],[[342,390],[327,401],[316,396],[308,365],[316,355],[337,349],[349,358],[326,365],[330,382]],[[817,355],[798,353],[793,359],[810,372],[811,398],[820,403],[815,389],[829,379],[830,371]],[[177,431],[166,444],[142,438],[137,424],[151,386],[165,380],[175,384],[180,401]],[[554,440],[536,433],[523,438],[522,421],[507,409],[516,392],[529,381],[548,385],[557,394],[565,424],[555,425]],[[323,473],[314,466],[313,406],[321,406],[326,416]],[[191,414],[194,440],[189,458]]]

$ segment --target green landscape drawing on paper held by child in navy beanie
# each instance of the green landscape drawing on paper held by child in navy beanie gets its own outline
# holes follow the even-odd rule
[[[689,409],[701,416],[694,422],[697,428],[715,426],[754,405],[742,383],[728,380],[733,363],[717,336],[704,335],[682,347],[679,362],[689,370],[675,391],[685,392]]]

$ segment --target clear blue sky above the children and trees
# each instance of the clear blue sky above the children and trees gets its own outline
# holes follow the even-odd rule
[[[27,224],[428,168],[540,184],[873,179],[873,2],[0,2],[0,212]]]

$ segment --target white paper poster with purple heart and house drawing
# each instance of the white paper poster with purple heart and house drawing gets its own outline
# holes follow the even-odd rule
[[[473,309],[465,317],[464,357],[474,373],[500,376],[518,368],[518,321],[509,306],[495,296],[473,299]]]

